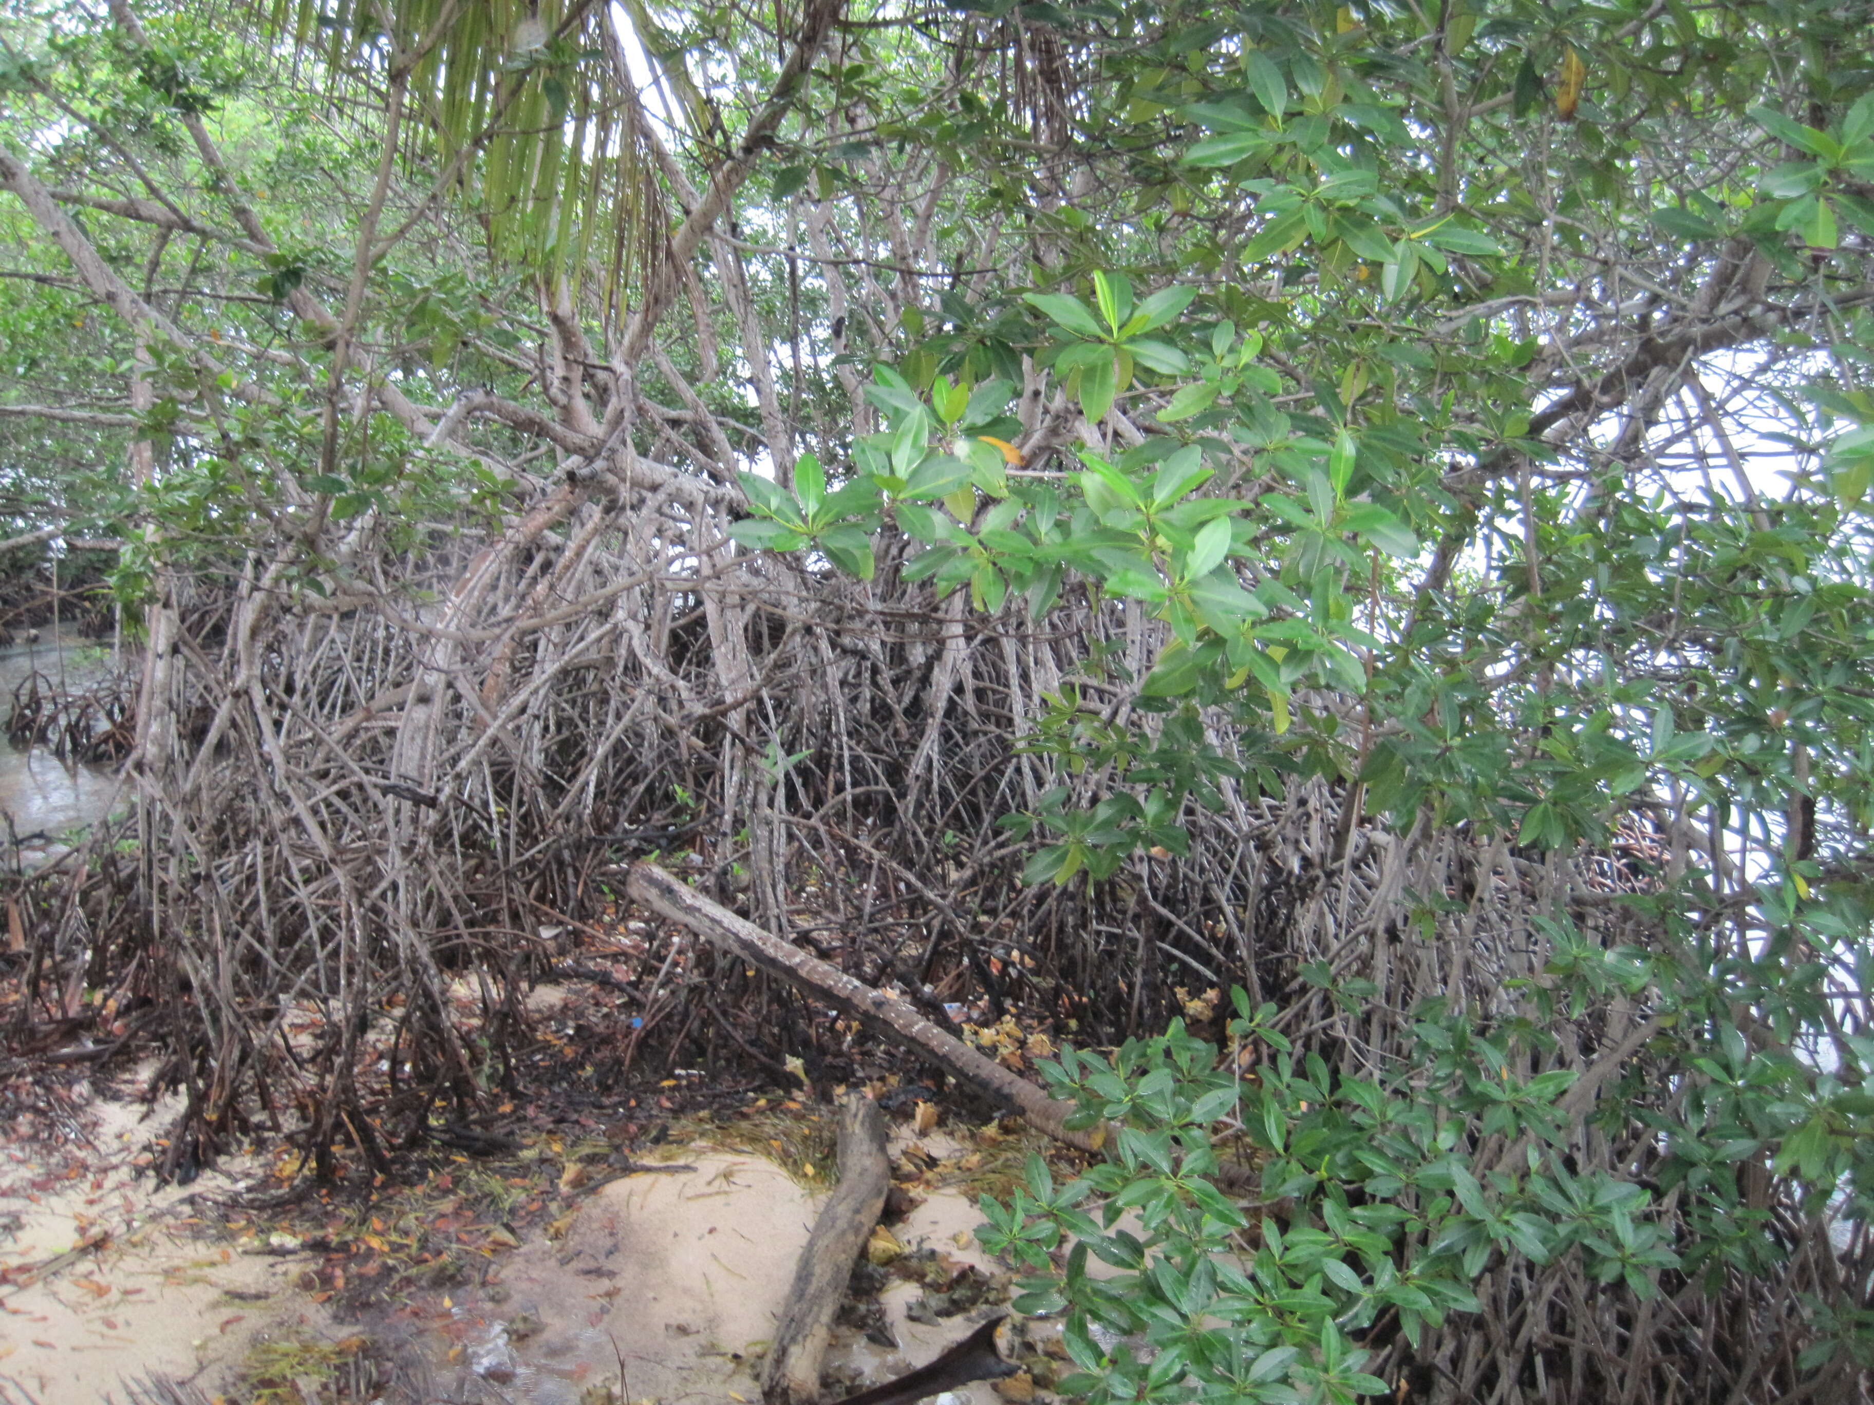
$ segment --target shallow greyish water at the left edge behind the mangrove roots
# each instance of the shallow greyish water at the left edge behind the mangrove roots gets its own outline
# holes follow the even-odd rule
[[[96,646],[45,641],[0,648],[0,717],[13,689],[34,671],[39,688],[82,688],[109,669]],[[64,837],[103,819],[118,779],[103,766],[67,766],[51,747],[15,747],[0,740],[0,845],[19,847],[26,864],[43,860]],[[6,826],[11,824],[11,834]]]

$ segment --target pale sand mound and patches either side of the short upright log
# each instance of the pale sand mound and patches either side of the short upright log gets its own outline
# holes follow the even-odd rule
[[[433,1364],[431,1388],[513,1405],[579,1405],[600,1386],[639,1405],[759,1401],[759,1358],[819,1201],[761,1158],[695,1150],[686,1163],[695,1169],[603,1186],[558,1242],[523,1244],[491,1285],[440,1311],[401,1313],[405,1343]],[[989,1268],[973,1240],[958,1242],[980,1220],[963,1195],[935,1193],[896,1233],[911,1250],[930,1244]],[[969,1332],[974,1319],[911,1323],[916,1296],[896,1283],[881,1298],[900,1351],[840,1328],[830,1366],[886,1381]],[[386,1330],[397,1332],[395,1321]],[[997,1401],[988,1386],[963,1399]]]

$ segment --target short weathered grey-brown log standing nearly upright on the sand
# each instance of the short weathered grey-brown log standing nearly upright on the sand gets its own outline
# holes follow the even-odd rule
[[[774,1334],[763,1379],[766,1405],[813,1405],[834,1313],[845,1296],[853,1264],[885,1208],[892,1165],[885,1156],[885,1117],[862,1092],[849,1092],[840,1109],[840,1186],[813,1235],[800,1250],[787,1311]]]

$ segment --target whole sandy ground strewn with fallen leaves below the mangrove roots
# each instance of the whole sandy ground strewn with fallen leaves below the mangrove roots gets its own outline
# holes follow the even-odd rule
[[[778,1072],[742,1040],[720,1068],[647,1057],[620,1075],[645,985],[682,978],[686,942],[618,909],[543,935],[560,957],[528,997],[536,1038],[491,1115],[431,1126],[388,1176],[339,1158],[337,1180],[317,1186],[294,1148],[257,1143],[159,1188],[150,1169],[176,1096],[146,1098],[129,1049],[99,1068],[13,1062],[0,1401],[759,1399],[761,1354],[834,1175],[830,1100],[855,1083],[886,1111],[894,1184],[828,1392],[922,1364],[1008,1300],[1006,1264],[973,1238],[974,1197],[1006,1193],[1031,1152],[1074,1152],[976,1120],[941,1077],[830,1013],[802,1012],[823,1047]],[[1025,1032],[1018,1010],[993,1025],[956,1013],[1019,1072],[1053,1047],[1046,1021]],[[1046,1390],[1057,1345],[1021,1353],[1029,1369],[973,1386],[974,1405]]]

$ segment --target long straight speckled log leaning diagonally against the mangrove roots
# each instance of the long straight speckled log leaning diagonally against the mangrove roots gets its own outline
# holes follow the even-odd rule
[[[662,912],[699,937],[706,937],[716,946],[735,952],[748,965],[780,976],[815,1000],[825,1000],[853,1015],[873,1034],[911,1045],[944,1073],[1019,1115],[1038,1131],[1083,1152],[1100,1148],[1104,1128],[1096,1133],[1066,1126],[1066,1118],[1074,1111],[1072,1103],[1049,1098],[1027,1079],[1010,1073],[954,1034],[937,1028],[903,1000],[853,980],[838,967],[772,937],[663,869],[652,864],[633,864],[626,890],[645,907]]]

